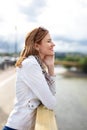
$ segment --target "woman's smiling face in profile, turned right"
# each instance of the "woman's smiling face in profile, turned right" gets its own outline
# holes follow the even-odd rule
[[[41,41],[41,44],[38,45],[39,55],[41,57],[54,55],[54,46],[55,44],[52,42],[50,34],[48,33]]]

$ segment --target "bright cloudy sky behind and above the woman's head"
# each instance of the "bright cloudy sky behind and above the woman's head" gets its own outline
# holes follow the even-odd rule
[[[87,53],[87,0],[0,0],[0,41],[22,49],[39,26],[49,30],[55,51]]]

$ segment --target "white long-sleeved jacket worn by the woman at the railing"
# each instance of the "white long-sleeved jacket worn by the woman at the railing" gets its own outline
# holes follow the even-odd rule
[[[49,76],[54,81],[55,76]],[[36,108],[42,103],[54,110],[55,82],[49,88],[42,69],[34,56],[29,56],[17,68],[16,98],[6,126],[17,130],[34,130]]]

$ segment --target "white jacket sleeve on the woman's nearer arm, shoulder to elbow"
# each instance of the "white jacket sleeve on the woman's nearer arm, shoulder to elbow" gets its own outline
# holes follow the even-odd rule
[[[52,94],[39,64],[35,59],[23,64],[23,81],[48,109],[54,109],[56,98]]]

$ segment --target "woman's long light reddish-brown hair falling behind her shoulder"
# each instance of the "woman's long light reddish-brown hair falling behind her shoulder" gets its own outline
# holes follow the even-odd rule
[[[35,28],[27,34],[25,38],[25,47],[20,53],[20,57],[17,60],[15,66],[21,67],[22,61],[29,55],[38,55],[38,51],[35,49],[35,43],[40,44],[42,39],[47,35],[48,30],[42,27]]]

